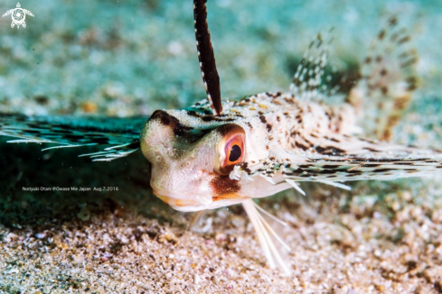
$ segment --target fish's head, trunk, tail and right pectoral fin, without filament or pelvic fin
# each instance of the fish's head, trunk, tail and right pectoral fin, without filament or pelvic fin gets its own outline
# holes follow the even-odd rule
[[[349,188],[342,182],[437,171],[437,151],[363,137],[388,139],[416,88],[410,68],[417,53],[409,49],[406,31],[390,18],[368,53],[374,57],[364,60],[361,77],[346,94],[336,93],[324,75],[331,36],[319,33],[311,42],[286,93],[226,100],[218,111],[209,98],[155,112],[140,136],[154,193],[175,209],[198,211],[291,187],[304,193],[298,181]],[[364,108],[381,115],[364,115]],[[370,123],[381,126],[365,127]],[[235,161],[229,161],[232,142],[240,151]]]

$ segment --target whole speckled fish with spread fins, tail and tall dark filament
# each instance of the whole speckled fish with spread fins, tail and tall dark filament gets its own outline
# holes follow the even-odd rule
[[[54,143],[44,148],[96,145],[92,161],[142,152],[150,186],[183,212],[241,204],[257,233],[268,266],[290,275],[290,248],[277,233],[286,223],[253,199],[319,182],[351,189],[362,179],[422,177],[442,169],[442,152],[390,142],[391,132],[418,87],[418,53],[407,30],[391,16],[369,48],[356,77],[339,91],[327,73],[334,30],[318,33],[287,92],[221,99],[221,83],[204,0],[193,1],[194,30],[207,97],[150,117],[0,115],[8,142]],[[339,101],[339,102],[336,102]],[[197,216],[201,216],[197,214]],[[271,221],[268,221],[271,220]],[[277,224],[277,225],[275,225]]]

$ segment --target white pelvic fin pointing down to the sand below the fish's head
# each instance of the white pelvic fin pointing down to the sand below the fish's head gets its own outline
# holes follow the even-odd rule
[[[253,200],[249,199],[242,202],[242,206],[249,216],[251,224],[255,228],[259,238],[259,243],[261,244],[261,248],[266,255],[270,269],[279,268],[285,275],[289,276],[291,274],[289,264],[287,264],[287,262],[281,256],[281,252],[283,253],[284,250],[289,251],[290,249],[287,243],[284,243],[282,238],[277,235],[275,230],[268,225],[268,222],[264,219],[264,217],[259,214],[257,205],[255,202],[253,202]],[[262,211],[262,208],[260,208],[260,210]],[[281,222],[279,220],[277,221],[278,223]],[[277,248],[272,239],[276,239],[277,242],[280,243],[284,248]]]

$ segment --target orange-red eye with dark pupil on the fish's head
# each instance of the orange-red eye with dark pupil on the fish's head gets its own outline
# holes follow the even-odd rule
[[[225,124],[220,128],[223,139],[221,140],[221,162],[217,173],[227,176],[234,166],[243,161],[245,155],[246,134],[237,124]]]

